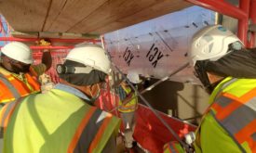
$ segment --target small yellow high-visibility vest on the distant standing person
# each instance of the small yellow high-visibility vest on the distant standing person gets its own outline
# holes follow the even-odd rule
[[[126,93],[126,98],[123,100],[124,102],[127,99],[131,99],[127,104],[123,105],[123,101],[119,100],[119,108],[118,110],[121,112],[132,112],[138,108],[138,98],[136,97],[135,93],[131,91],[129,86],[125,86],[121,84],[122,89]]]

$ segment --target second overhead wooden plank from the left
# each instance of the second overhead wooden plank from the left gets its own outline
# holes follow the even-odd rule
[[[105,2],[107,0],[65,0],[65,3],[54,1],[44,31],[67,32]],[[81,31],[76,32],[83,33]]]

